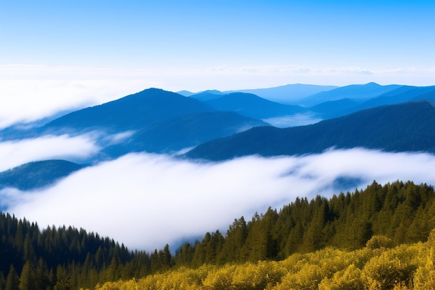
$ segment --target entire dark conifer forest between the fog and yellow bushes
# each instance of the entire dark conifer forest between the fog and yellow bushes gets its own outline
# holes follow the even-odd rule
[[[207,232],[174,255],[124,245],[74,227],[47,227],[0,214],[0,290],[92,289],[169,269],[284,260],[325,247],[357,250],[372,236],[391,245],[426,241],[435,227],[434,188],[427,184],[373,182],[331,198],[296,198],[251,220],[236,218],[225,234]]]

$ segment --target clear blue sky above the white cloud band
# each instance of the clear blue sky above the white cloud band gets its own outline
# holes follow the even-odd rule
[[[434,1],[1,1],[0,11],[1,64],[435,67]]]

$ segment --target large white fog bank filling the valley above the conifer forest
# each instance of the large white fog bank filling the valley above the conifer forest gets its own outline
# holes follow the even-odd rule
[[[0,194],[8,198],[8,212],[40,227],[74,225],[131,249],[154,250],[207,231],[225,232],[234,218],[249,220],[255,211],[279,209],[297,196],[330,197],[365,188],[373,180],[435,184],[433,168],[435,156],[430,154],[363,149],[222,163],[128,154],[85,168],[51,188]],[[337,182],[343,178],[353,181],[350,188]]]

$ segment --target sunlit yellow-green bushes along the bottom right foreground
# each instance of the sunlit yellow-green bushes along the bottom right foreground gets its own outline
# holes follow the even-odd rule
[[[364,248],[326,247],[281,261],[178,267],[139,279],[98,285],[95,290],[427,290],[435,289],[435,230],[425,243],[390,248],[372,236]]]

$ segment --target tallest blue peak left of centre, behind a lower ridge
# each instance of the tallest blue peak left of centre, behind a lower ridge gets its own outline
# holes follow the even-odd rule
[[[214,110],[196,99],[150,88],[112,102],[69,113],[49,122],[42,130],[138,129],[167,118],[204,111]]]

